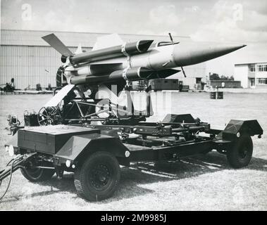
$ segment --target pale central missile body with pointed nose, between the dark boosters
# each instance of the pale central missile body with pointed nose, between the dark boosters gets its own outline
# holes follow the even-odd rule
[[[135,54],[132,56],[111,58],[107,60],[99,60],[98,64],[89,64],[81,66],[80,68],[73,68],[72,66],[66,68],[66,77],[94,75],[101,76],[111,74],[119,70],[136,70],[137,68],[147,68],[159,72],[163,70],[166,72],[170,68],[178,68],[186,65],[194,65],[202,63],[206,60],[211,60],[227,53],[235,51],[244,47],[244,45],[218,45],[218,44],[170,44],[168,46],[156,46],[145,51],[144,53]],[[94,58],[95,60],[95,58]],[[120,62],[120,63],[118,63]],[[120,77],[123,78],[123,77]],[[129,77],[124,77],[130,79]],[[84,78],[82,78],[84,79]],[[106,79],[117,79],[113,76],[103,77]],[[138,79],[149,79],[149,77],[136,77]],[[151,79],[151,78],[150,78]],[[75,80],[75,79],[73,79]],[[77,79],[75,84],[77,84]],[[92,81],[92,79],[88,79]]]

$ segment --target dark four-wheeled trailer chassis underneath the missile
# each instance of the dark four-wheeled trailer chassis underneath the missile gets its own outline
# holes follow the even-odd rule
[[[114,117],[112,111],[124,108],[110,101],[98,106],[97,102],[84,101],[67,101],[65,113],[59,107],[61,101],[54,108],[42,108],[35,118],[48,126],[19,127],[16,133],[14,129],[6,148],[20,156],[13,166],[0,171],[0,183],[16,169],[32,182],[50,179],[55,173],[62,177],[68,171],[74,172],[75,188],[82,198],[103,200],[116,191],[120,165],[217,150],[227,156],[231,167],[241,168],[252,158],[251,136],[260,138],[263,134],[256,120],[231,120],[223,130],[211,129],[209,123],[190,114],[166,115],[158,123],[142,122],[146,116],[133,108],[126,117]],[[150,102],[148,94],[147,117],[152,114]],[[92,107],[109,113],[109,117],[93,117],[97,113]]]

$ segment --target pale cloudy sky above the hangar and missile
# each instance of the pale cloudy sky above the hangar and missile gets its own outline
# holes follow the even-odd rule
[[[247,44],[210,60],[207,72],[267,61],[266,0],[1,0],[1,29],[161,34]],[[179,41],[179,40],[175,40]]]

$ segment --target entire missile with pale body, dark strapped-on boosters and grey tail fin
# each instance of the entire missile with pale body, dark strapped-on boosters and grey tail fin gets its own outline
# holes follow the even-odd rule
[[[97,42],[92,51],[72,53],[55,34],[42,39],[61,53],[68,84],[88,86],[166,78],[180,72],[174,68],[202,63],[245,46],[154,40],[123,43],[120,39],[115,46]]]

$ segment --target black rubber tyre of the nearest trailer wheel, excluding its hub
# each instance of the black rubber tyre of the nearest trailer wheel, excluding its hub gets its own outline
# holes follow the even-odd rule
[[[99,191],[88,180],[89,171],[96,165],[106,165],[111,173],[108,186]],[[78,195],[89,201],[98,201],[110,198],[120,181],[120,165],[114,155],[105,151],[99,151],[89,157],[77,167],[74,173],[74,184]],[[88,185],[87,185],[88,184]]]

